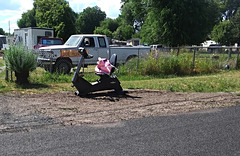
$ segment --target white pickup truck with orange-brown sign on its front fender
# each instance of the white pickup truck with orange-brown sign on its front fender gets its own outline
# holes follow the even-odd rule
[[[83,47],[93,55],[92,59],[85,60],[85,65],[96,64],[98,57],[109,59],[112,54],[117,54],[117,62],[126,63],[134,57],[146,57],[151,48],[145,46],[109,46],[105,35],[72,35],[64,45],[42,47],[39,49],[38,64],[45,69],[52,67],[61,73],[69,73],[72,67],[77,66],[80,58],[78,49]]]

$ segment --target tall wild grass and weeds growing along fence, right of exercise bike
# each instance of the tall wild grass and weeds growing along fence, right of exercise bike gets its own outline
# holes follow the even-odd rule
[[[193,60],[193,53],[180,53],[178,56],[172,53],[158,57],[150,55],[139,60],[135,58],[120,67],[120,75],[183,76],[213,73],[221,68],[216,59],[196,57]]]

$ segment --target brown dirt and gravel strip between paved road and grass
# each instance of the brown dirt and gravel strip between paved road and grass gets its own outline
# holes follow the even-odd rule
[[[178,93],[129,90],[119,96],[99,92],[87,97],[73,92],[0,95],[0,133],[60,125],[118,122],[135,118],[233,106],[240,97],[231,93]],[[211,111],[210,111],[211,112]]]

